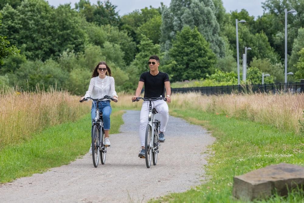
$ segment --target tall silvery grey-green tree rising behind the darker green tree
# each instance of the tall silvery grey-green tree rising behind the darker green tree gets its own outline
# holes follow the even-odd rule
[[[198,31],[210,43],[210,48],[218,56],[223,57],[224,42],[219,36],[219,23],[213,12],[215,6],[212,0],[172,0],[170,7],[162,10],[163,24],[161,26],[161,43],[165,50],[171,47],[171,40],[184,26]]]

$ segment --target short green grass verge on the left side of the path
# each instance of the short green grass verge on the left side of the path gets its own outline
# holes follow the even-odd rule
[[[111,134],[119,132],[123,111],[113,108]],[[18,145],[0,151],[0,183],[42,173],[49,168],[68,164],[88,152],[91,143],[91,115],[76,122],[59,124],[33,134]],[[111,136],[111,135],[110,135]]]

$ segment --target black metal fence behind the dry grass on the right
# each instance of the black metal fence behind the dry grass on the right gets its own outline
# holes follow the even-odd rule
[[[231,94],[231,93],[303,93],[304,79],[294,83],[276,83],[276,84],[257,84],[257,85],[230,85],[230,86],[212,86],[212,87],[183,87],[171,88],[172,93],[199,92],[206,95]]]

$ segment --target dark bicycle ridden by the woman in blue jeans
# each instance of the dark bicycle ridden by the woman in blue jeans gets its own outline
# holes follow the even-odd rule
[[[113,97],[105,95],[104,97],[102,97],[100,99],[93,99],[91,97],[86,97],[83,100],[79,100],[79,102],[84,102],[89,99],[96,101],[96,103],[97,103],[96,117],[95,117],[95,119],[93,119],[92,131],[91,131],[93,165],[95,167],[97,167],[98,163],[99,163],[99,154],[100,154],[101,163],[105,164],[105,156],[106,156],[106,152],[107,152],[107,147],[104,145],[105,131],[103,129],[103,117],[102,117],[102,112],[99,112],[99,109],[98,109],[98,101],[103,100],[103,99],[110,99],[112,101],[117,101],[117,100],[115,100]]]

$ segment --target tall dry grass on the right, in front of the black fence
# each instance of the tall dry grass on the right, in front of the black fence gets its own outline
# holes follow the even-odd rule
[[[271,124],[299,132],[303,120],[304,94],[231,94],[202,96],[199,93],[174,94],[173,108],[196,108],[228,116]]]

